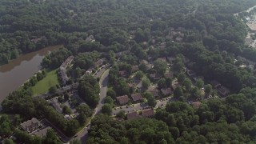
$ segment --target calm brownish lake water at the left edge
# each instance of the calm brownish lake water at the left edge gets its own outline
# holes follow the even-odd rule
[[[46,54],[60,47],[62,46],[49,46],[30,54],[23,54],[8,64],[0,66],[0,103],[41,69],[40,63]]]

